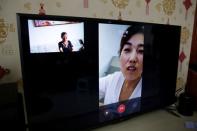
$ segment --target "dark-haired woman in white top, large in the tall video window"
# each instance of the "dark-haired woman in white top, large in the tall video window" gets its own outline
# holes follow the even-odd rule
[[[120,43],[121,71],[99,80],[99,99],[104,99],[104,105],[141,97],[143,52],[144,27],[130,26]]]

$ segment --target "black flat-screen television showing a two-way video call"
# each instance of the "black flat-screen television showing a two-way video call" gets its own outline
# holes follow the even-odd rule
[[[17,14],[30,130],[80,130],[175,102],[180,26]]]

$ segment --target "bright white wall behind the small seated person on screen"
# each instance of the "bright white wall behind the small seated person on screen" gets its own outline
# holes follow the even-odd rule
[[[58,22],[54,21],[54,23]],[[34,20],[28,20],[28,29],[30,53],[61,52],[58,43],[63,41],[62,32],[66,32],[67,39],[72,44],[72,52],[79,51],[83,47],[83,22],[36,27]]]

